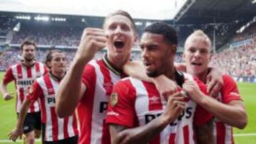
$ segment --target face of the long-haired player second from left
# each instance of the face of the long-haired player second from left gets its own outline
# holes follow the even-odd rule
[[[48,65],[50,66],[50,70],[52,70],[53,72],[65,72],[67,66],[67,60],[65,55],[60,52],[54,52],[53,59],[48,62]]]

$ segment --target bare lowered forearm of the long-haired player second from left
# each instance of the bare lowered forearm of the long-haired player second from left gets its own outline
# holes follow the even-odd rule
[[[26,118],[26,113],[28,112],[30,106],[30,102],[28,100],[23,101],[23,104],[21,105],[21,111],[18,113],[18,121],[16,128],[21,129],[23,127],[23,123]]]

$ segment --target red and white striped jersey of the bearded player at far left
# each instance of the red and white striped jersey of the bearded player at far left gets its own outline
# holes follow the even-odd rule
[[[4,84],[8,84],[13,80],[15,82],[17,94],[16,112],[20,112],[21,104],[28,94],[28,89],[33,84],[33,81],[38,77],[42,77],[46,73],[48,73],[48,68],[41,62],[35,62],[31,67],[26,67],[25,65],[22,65],[21,62],[18,62],[16,65],[9,67],[4,75],[3,82]],[[40,111],[40,106],[38,101],[35,101],[31,104],[30,109],[28,109],[28,113],[38,111]]]

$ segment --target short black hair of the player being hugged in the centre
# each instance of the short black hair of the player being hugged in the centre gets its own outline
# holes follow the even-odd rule
[[[154,33],[159,35],[164,35],[167,42],[178,45],[178,36],[176,30],[169,24],[164,22],[152,23],[144,28],[143,33]]]

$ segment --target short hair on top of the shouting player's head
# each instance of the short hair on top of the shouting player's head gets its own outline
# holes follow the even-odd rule
[[[117,11],[114,11],[114,12],[110,13],[109,15],[107,15],[105,18],[103,27],[105,27],[105,24],[108,19],[110,19],[112,16],[117,16],[117,15],[127,17],[129,19],[129,21],[131,21],[131,23],[132,23],[132,30],[134,31],[134,33],[137,33],[136,26],[135,26],[134,20],[132,19],[132,16],[127,11],[123,11],[123,10],[117,10]]]

